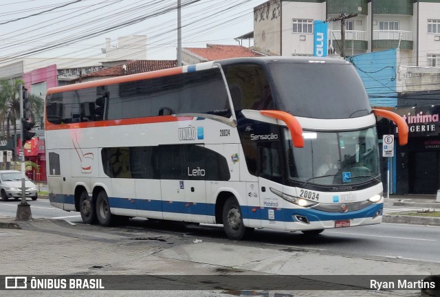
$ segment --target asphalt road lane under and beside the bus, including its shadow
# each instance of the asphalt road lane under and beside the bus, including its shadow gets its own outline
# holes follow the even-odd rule
[[[15,217],[17,201],[0,203],[0,216]],[[65,212],[50,205],[46,199],[28,201],[33,218],[64,219],[81,224],[79,212]],[[395,212],[401,208],[386,209]],[[159,224],[146,219],[131,219],[124,228],[155,230],[171,234],[190,234],[200,239],[228,242],[221,225],[202,224],[187,226],[181,224]],[[353,228],[325,230],[320,236],[310,238],[300,232],[278,232],[256,230],[251,241],[259,245],[283,245],[286,249],[305,248],[321,250],[342,256],[373,256],[395,259],[410,259],[440,263],[438,246],[440,227],[382,223]]]

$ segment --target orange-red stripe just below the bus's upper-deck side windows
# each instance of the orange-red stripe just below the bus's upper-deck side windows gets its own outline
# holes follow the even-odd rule
[[[63,129],[78,129],[78,128],[96,128],[104,126],[124,126],[131,124],[153,124],[159,122],[177,122],[183,120],[192,120],[194,117],[175,117],[173,115],[160,115],[147,118],[129,118],[122,120],[103,120],[96,122],[78,122],[72,124],[52,124],[45,122],[46,130],[63,130]]]

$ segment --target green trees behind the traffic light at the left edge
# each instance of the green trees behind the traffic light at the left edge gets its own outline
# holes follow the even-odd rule
[[[23,80],[0,80],[0,122],[3,136],[10,137],[10,127],[14,126],[14,135],[17,135],[17,120],[20,120],[19,84]],[[21,91],[21,90],[20,90]],[[44,102],[39,96],[30,95],[30,115],[32,120],[39,120],[43,115]],[[5,131],[5,132],[4,132]]]

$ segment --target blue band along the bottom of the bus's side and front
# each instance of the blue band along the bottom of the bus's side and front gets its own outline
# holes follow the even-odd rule
[[[56,194],[50,196],[51,202],[74,204],[74,195]],[[157,212],[171,212],[183,214],[198,214],[215,216],[214,203],[191,203],[185,201],[162,201],[147,199],[129,199],[109,197],[109,203],[112,208],[123,208],[131,210],[151,210]],[[296,214],[307,217],[309,221],[336,221],[344,219],[362,219],[374,217],[377,211],[384,208],[383,203],[373,204],[362,210],[352,212],[324,212],[314,210],[313,208],[260,208],[259,206],[241,206],[243,219],[262,219],[269,221],[269,210],[274,210],[276,221],[292,222],[296,221]]]

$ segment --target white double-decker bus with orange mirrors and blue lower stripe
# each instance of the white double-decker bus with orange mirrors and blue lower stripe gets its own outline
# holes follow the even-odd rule
[[[131,217],[319,234],[382,221],[376,117],[332,58],[234,58],[47,90],[50,202]],[[325,165],[325,166],[324,166]]]

